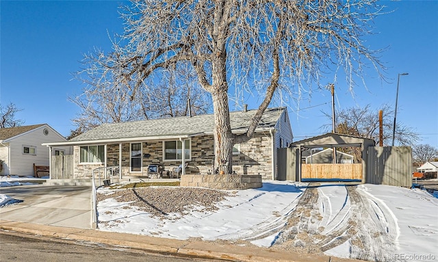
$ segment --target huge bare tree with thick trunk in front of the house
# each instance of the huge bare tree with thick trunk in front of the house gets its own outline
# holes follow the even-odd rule
[[[274,93],[300,94],[304,85],[319,84],[324,70],[343,68],[350,88],[368,63],[379,72],[376,53],[363,44],[381,13],[376,2],[132,1],[122,14],[125,34],[111,53],[88,57],[88,70],[96,74],[93,84],[110,81],[136,95],[163,73],[193,68],[213,99],[214,165],[231,172],[233,144],[253,136]],[[242,134],[231,133],[230,87],[263,94]]]

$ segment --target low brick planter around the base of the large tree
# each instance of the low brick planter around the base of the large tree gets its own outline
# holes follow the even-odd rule
[[[185,174],[181,187],[207,187],[214,189],[248,189],[261,187],[261,175],[240,174]]]

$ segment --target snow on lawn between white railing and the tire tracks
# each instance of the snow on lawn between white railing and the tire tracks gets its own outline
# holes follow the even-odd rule
[[[99,190],[99,193],[106,190]],[[295,183],[263,183],[259,189],[235,192],[234,196],[220,202],[218,211],[205,213],[193,210],[178,220],[163,220],[144,211],[127,209],[128,203],[110,198],[98,203],[99,228],[175,239],[242,239],[255,232],[263,233],[266,227],[283,225],[285,216],[294,209],[302,192],[303,189]]]

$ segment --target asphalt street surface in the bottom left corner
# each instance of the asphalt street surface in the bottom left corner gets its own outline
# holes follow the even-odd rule
[[[171,257],[166,254],[151,254],[126,247],[0,231],[0,261],[211,262],[218,260]]]

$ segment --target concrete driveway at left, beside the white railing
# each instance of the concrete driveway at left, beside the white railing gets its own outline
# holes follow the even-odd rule
[[[23,201],[1,207],[0,220],[91,228],[91,189],[57,185],[0,187],[0,194]]]

